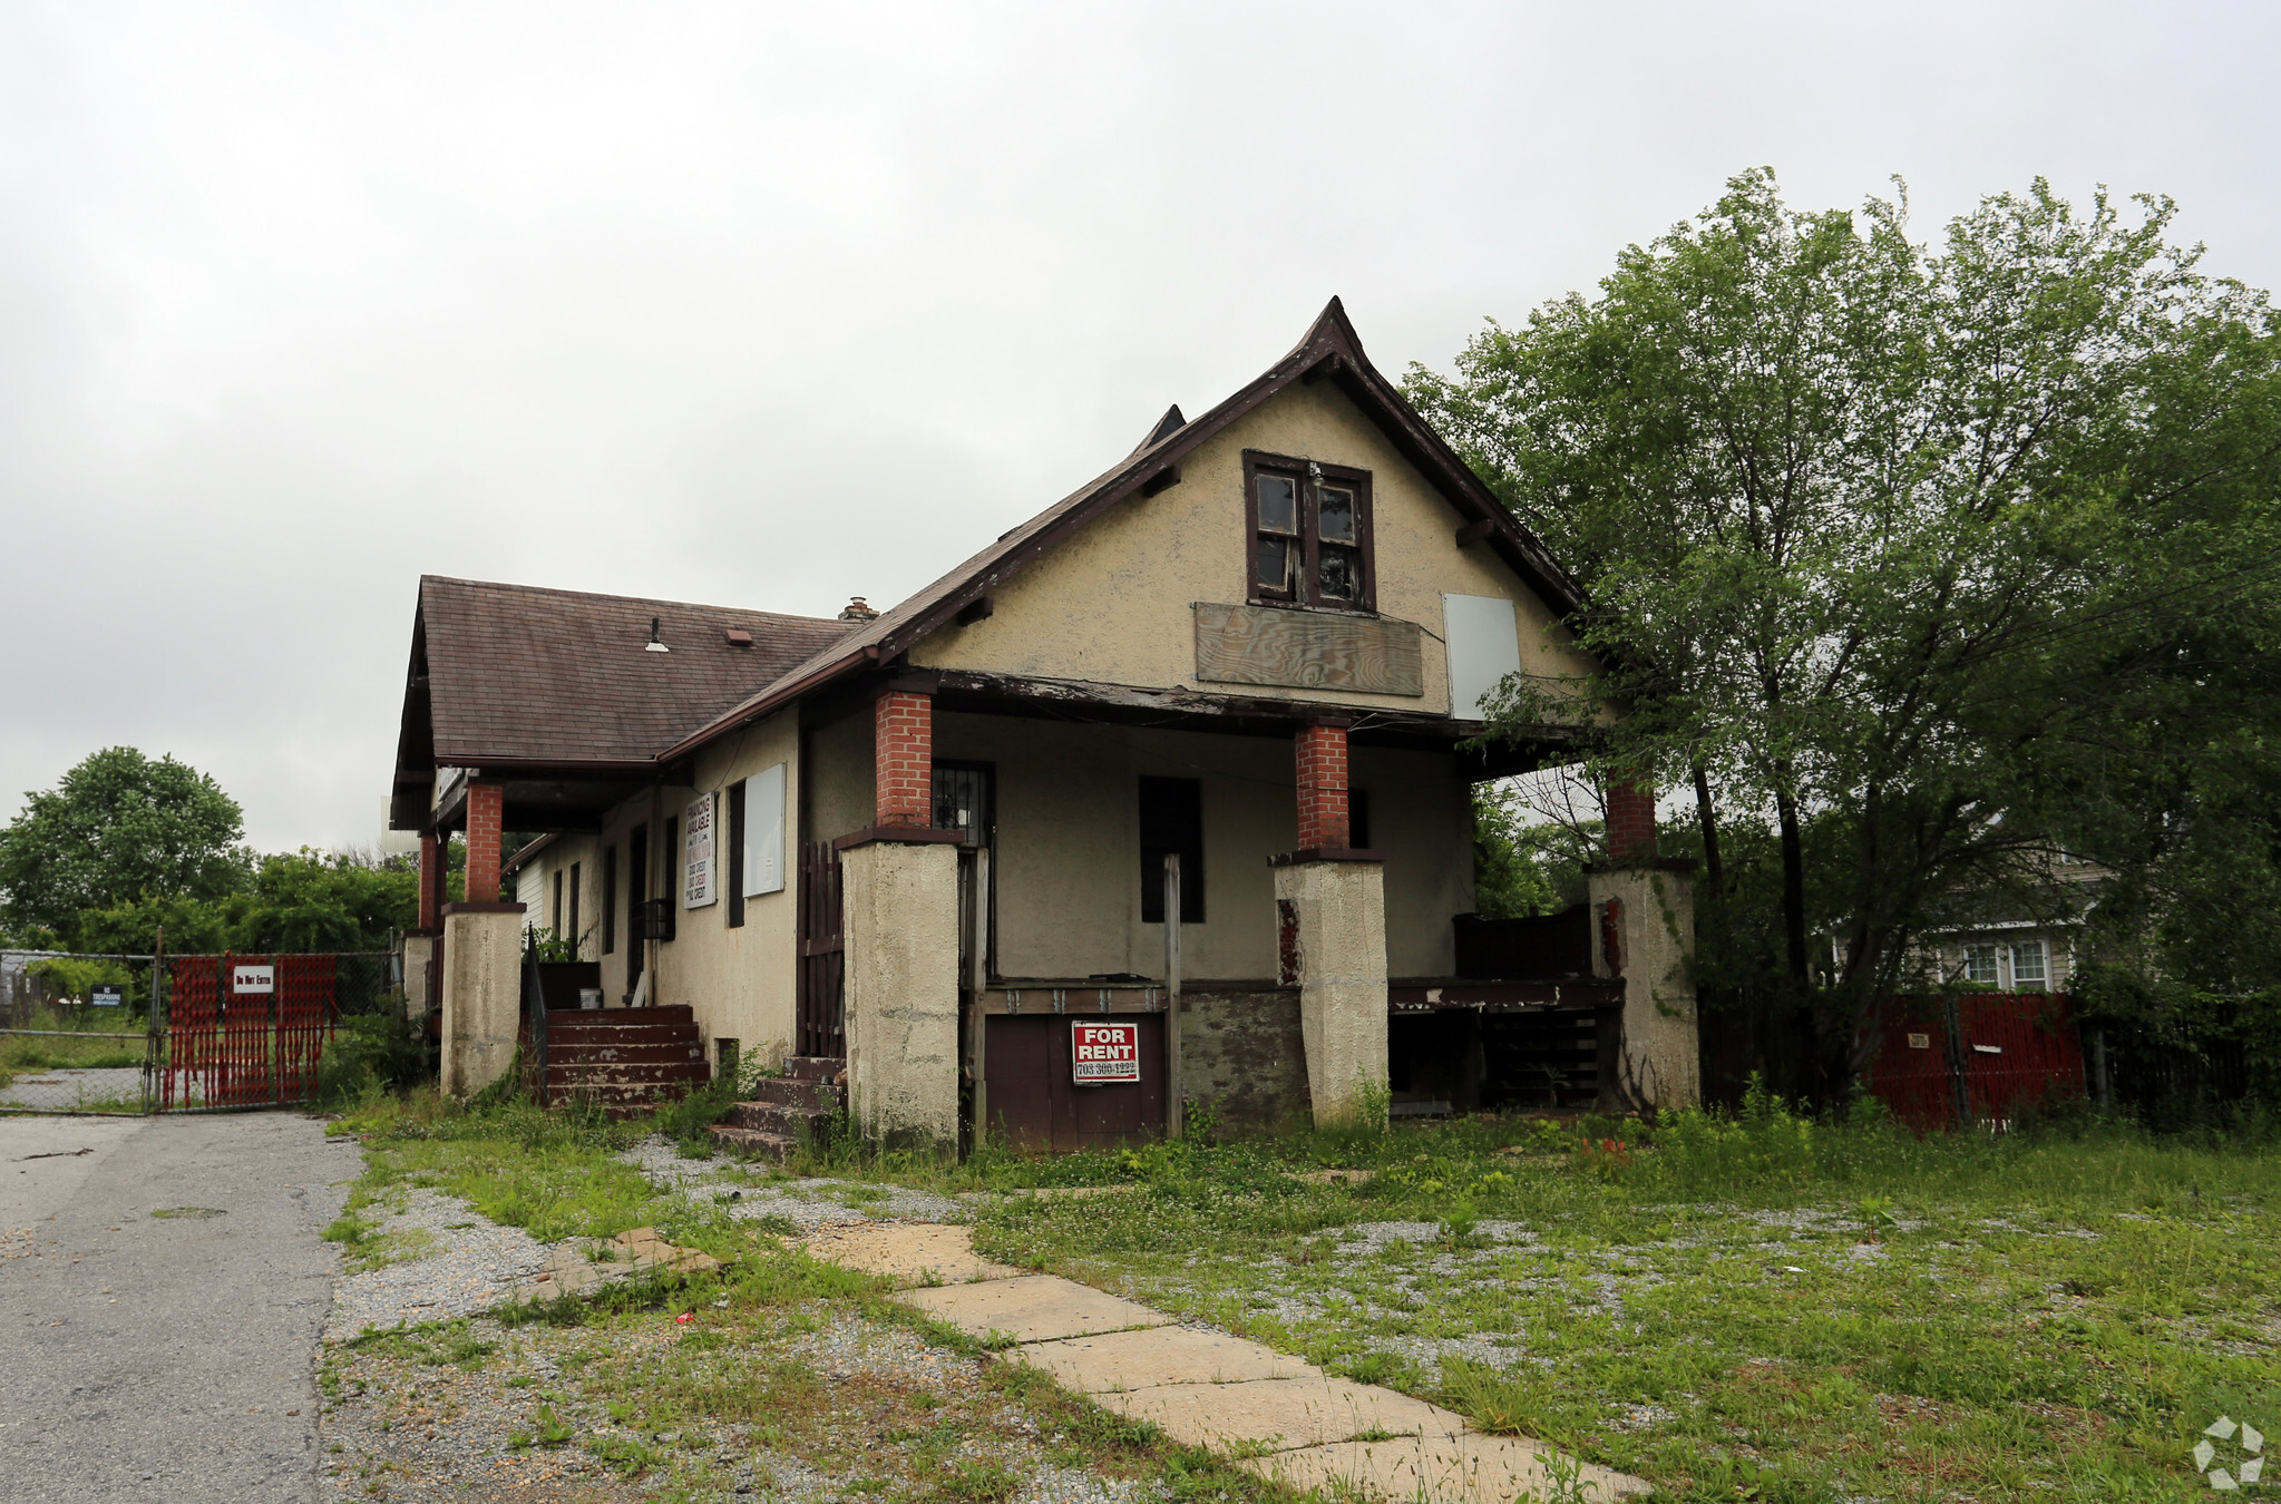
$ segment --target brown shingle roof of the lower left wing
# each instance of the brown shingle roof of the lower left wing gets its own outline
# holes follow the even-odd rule
[[[646,652],[650,618],[673,652]],[[648,763],[846,636],[846,622],[630,595],[420,579],[433,757]],[[753,634],[732,647],[728,629]]]

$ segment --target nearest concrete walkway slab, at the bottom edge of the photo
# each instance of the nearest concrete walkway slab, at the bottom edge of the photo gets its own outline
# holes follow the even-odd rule
[[[1403,1436],[1334,1442],[1241,1458],[1236,1465],[1298,1490],[1344,1490],[1398,1504],[1512,1504],[1524,1490],[1544,1497],[1549,1447],[1510,1436]],[[1606,1502],[1647,1493],[1647,1481],[1581,1463],[1581,1497]]]

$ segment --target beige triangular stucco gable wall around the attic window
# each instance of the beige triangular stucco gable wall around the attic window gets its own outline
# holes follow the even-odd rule
[[[1241,693],[1448,713],[1444,592],[1512,599],[1524,672],[1590,672],[1567,629],[1503,561],[1485,545],[1458,547],[1453,533],[1467,517],[1332,383],[1291,387],[1245,415],[1179,463],[1179,485],[1134,497],[1095,520],[1006,581],[990,618],[944,627],[919,643],[910,661],[1150,688],[1229,688],[1198,684],[1188,606],[1248,599],[1245,449],[1371,472],[1378,611],[1426,627],[1426,693],[1357,695],[1250,684]]]

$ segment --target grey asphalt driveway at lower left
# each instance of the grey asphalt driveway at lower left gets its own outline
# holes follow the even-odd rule
[[[356,1174],[299,1112],[0,1117],[0,1499],[315,1499]]]

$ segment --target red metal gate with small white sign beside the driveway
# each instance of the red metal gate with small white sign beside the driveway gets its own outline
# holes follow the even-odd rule
[[[340,1025],[333,955],[169,959],[160,1112],[299,1103]]]

